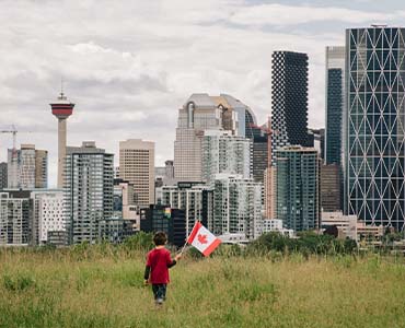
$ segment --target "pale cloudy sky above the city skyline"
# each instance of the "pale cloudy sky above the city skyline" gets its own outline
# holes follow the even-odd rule
[[[258,122],[270,115],[271,54],[309,55],[309,127],[324,127],[325,47],[345,28],[405,24],[402,0],[0,0],[0,130],[49,151],[56,185],[57,120],[63,90],[76,104],[68,145],[94,140],[155,142],[173,159],[177,109],[192,93],[227,93]],[[0,133],[0,161],[10,134]]]

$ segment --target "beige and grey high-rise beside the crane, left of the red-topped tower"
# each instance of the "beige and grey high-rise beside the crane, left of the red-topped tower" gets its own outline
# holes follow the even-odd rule
[[[48,152],[34,144],[21,144],[21,150],[8,150],[8,188],[47,188]]]

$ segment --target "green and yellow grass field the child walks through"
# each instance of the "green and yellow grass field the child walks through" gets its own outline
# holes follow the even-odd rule
[[[405,327],[390,257],[185,257],[157,309],[144,255],[0,251],[0,327]]]

